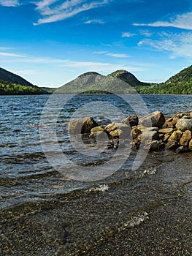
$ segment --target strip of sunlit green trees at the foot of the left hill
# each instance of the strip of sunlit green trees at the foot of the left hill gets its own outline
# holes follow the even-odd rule
[[[46,94],[37,86],[23,86],[16,83],[0,81],[0,95]]]

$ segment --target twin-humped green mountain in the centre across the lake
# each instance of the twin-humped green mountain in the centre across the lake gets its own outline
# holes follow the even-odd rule
[[[80,93],[135,93],[131,86],[149,86],[142,83],[126,70],[118,70],[104,76],[97,72],[87,72],[58,88],[57,94],[80,94]]]

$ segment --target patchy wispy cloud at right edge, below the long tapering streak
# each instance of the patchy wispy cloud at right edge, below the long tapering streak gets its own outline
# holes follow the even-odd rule
[[[162,32],[158,34],[159,39],[143,39],[139,46],[148,45],[154,50],[168,51],[170,58],[183,57],[192,59],[192,32],[170,34]]]

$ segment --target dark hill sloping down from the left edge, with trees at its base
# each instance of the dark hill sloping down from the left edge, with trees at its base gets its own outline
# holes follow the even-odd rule
[[[0,95],[7,94],[47,94],[47,91],[0,67]]]

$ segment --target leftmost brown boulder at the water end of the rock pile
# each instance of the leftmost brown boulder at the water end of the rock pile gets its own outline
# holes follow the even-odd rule
[[[80,118],[77,121],[69,121],[69,129],[72,133],[88,134],[91,129],[97,127],[96,121],[92,117]]]

